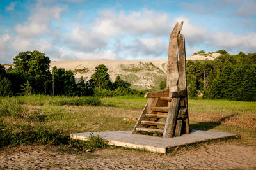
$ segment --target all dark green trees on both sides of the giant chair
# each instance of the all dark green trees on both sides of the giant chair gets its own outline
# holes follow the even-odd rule
[[[215,60],[188,60],[186,63],[190,99],[228,99],[256,101],[256,53],[230,55],[226,50]],[[204,55],[204,50],[195,54]],[[38,51],[20,52],[13,58],[15,67],[0,65],[0,96],[49,94],[52,96],[111,97],[142,96],[146,90],[131,89],[129,83],[116,77],[111,82],[108,68],[95,68],[89,81],[76,83],[74,73],[63,68],[50,70],[50,59]],[[166,81],[159,84],[159,89]]]

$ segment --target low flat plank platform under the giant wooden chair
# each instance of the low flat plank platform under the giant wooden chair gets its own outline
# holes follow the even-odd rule
[[[179,137],[161,138],[131,133],[132,131],[93,132],[94,136],[99,134],[100,138],[108,140],[109,145],[148,150],[150,152],[158,153],[166,153],[166,150],[177,146],[184,146],[213,139],[234,137],[237,135],[222,132],[193,130],[190,134],[184,134]],[[70,138],[83,141],[86,141],[88,136],[90,136],[90,133],[70,134]]]

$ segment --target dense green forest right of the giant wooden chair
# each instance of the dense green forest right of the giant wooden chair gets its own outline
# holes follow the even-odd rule
[[[216,52],[221,55],[215,60],[188,60],[189,97],[256,101],[256,53]]]

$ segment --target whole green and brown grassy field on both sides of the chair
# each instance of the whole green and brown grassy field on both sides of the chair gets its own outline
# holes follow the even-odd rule
[[[0,146],[29,143],[29,139],[58,145],[70,133],[131,130],[145,103],[147,99],[136,96],[100,101],[39,95],[0,98]],[[192,129],[237,133],[241,138],[236,142],[256,145],[255,102],[189,100],[189,121]],[[13,143],[4,143],[8,136]]]

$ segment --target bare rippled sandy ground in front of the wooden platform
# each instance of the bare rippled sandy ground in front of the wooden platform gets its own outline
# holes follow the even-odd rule
[[[255,169],[255,146],[210,143],[166,155],[122,148],[64,153],[58,146],[0,150],[0,169]]]

